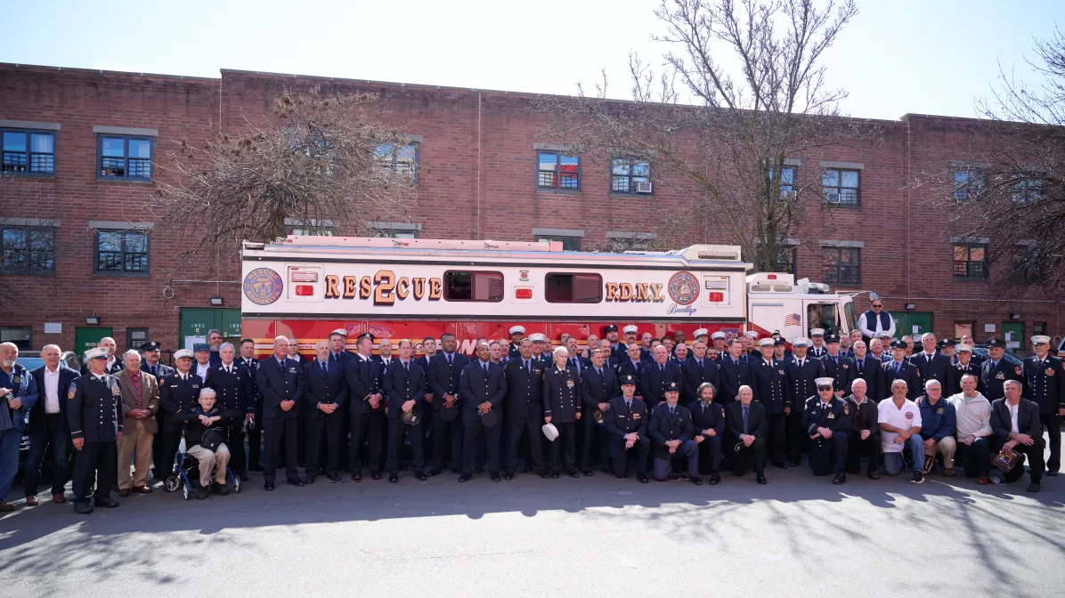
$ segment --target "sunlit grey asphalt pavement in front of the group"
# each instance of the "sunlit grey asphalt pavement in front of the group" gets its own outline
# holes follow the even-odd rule
[[[157,486],[88,516],[19,499],[0,518],[0,595],[1065,593],[1065,477],[1029,494],[1027,476],[1005,486],[936,475],[834,486],[805,466],[767,476],[694,486],[404,474],[267,493],[252,474],[240,495],[184,501]]]

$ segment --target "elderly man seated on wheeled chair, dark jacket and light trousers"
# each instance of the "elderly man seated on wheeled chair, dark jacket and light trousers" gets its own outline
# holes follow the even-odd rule
[[[226,486],[226,464],[229,463],[226,422],[229,421],[229,415],[215,405],[216,398],[212,388],[203,388],[199,394],[199,406],[192,414],[183,416],[187,421],[185,446],[190,447],[185,453],[199,462],[200,487],[196,492],[199,500],[207,498],[208,488],[212,487],[212,476],[214,493],[222,496],[229,494]]]

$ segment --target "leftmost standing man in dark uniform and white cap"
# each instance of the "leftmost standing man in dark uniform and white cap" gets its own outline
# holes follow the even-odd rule
[[[85,351],[88,373],[70,383],[67,391],[67,421],[77,450],[73,461],[73,511],[93,512],[88,491],[96,480],[93,502],[113,509],[118,501],[111,497],[117,482],[117,442],[122,437],[122,391],[118,379],[108,373],[104,349]],[[129,467],[129,464],[126,465]]]

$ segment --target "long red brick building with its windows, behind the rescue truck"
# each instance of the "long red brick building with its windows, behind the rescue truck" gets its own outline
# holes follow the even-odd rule
[[[207,79],[0,64],[9,175],[0,187],[3,339],[82,350],[106,333],[120,347],[151,338],[167,348],[209,328],[239,335],[239,256],[161,276],[175,269],[181,239],[153,234],[147,206],[179,140],[240,131],[284,87],[312,84],[379,94],[411,138],[396,160],[416,165],[416,216],[376,223],[381,234],[550,237],[581,250],[670,245],[658,235],[670,230],[671,213],[690,205],[683,185],[654,172],[644,179],[639,165],[615,179],[608,164],[561,156],[539,137],[544,123],[529,95],[233,70]],[[905,115],[869,126],[881,132],[876,144],[793,161],[797,176],[833,172],[839,194],[838,204],[809,199],[789,256],[796,273],[876,290],[906,332],[971,330],[978,340],[1009,332],[1019,349],[1033,333],[1062,334],[1056,298],[990,297],[981,261],[988,239],[952,237],[946,217],[928,206],[950,187],[914,184],[963,160],[979,143],[978,121]],[[645,180],[653,193],[635,193]],[[712,222],[685,236],[683,245],[730,240]]]

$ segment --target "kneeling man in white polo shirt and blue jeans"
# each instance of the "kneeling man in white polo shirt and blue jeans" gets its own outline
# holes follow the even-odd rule
[[[905,466],[903,447],[908,446],[914,456],[914,476],[910,481],[919,484],[924,481],[921,465],[924,463],[924,442],[921,439],[921,410],[917,403],[906,398],[906,382],[891,383],[891,398],[876,405],[876,422],[880,425],[880,444],[884,451],[884,472],[895,476]]]

